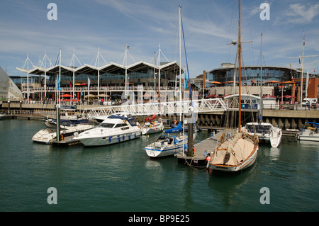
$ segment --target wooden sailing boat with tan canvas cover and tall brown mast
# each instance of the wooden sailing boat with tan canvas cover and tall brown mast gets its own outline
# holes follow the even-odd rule
[[[207,167],[210,173],[213,171],[240,171],[252,166],[257,158],[258,137],[248,134],[247,130],[241,129],[241,40],[240,40],[240,0],[238,20],[238,72],[239,72],[239,124],[238,132],[233,137],[220,137],[220,144],[211,153]]]

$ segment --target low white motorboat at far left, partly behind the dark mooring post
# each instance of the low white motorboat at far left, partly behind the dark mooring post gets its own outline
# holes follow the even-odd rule
[[[61,130],[60,130],[61,139],[64,139],[65,137],[69,137],[69,136],[77,136],[81,132],[90,130],[94,127],[95,125],[90,125],[90,124],[72,124],[71,123],[68,125],[61,125]],[[49,144],[50,142],[52,142],[52,140],[55,140],[56,138],[57,138],[57,128],[47,127],[35,133],[35,135],[32,137],[32,140],[34,142],[42,142],[42,143]]]

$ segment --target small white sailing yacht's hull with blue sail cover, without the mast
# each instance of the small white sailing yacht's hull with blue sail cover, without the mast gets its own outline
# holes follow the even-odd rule
[[[181,132],[181,123],[177,128],[165,130],[165,135],[157,137],[155,142],[151,142],[145,147],[145,152],[149,157],[167,157],[183,151],[184,145],[187,144],[187,135],[172,135],[174,132]]]

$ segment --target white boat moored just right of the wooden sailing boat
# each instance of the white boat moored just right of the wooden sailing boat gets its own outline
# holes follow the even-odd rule
[[[250,135],[256,134],[260,141],[269,141],[272,147],[278,147],[281,142],[281,129],[270,123],[247,123],[245,129]]]

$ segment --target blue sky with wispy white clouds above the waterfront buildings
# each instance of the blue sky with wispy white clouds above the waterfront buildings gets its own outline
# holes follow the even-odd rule
[[[57,6],[55,14],[50,3]],[[263,3],[269,13],[260,9]],[[60,49],[62,65],[72,55],[79,60],[76,67],[96,65],[98,50],[99,66],[123,64],[127,46],[127,64],[153,64],[159,47],[161,62],[179,62],[179,6],[186,47],[182,38],[181,67],[186,52],[189,77],[235,63],[237,47],[228,43],[237,40],[237,0],[1,0],[0,66],[9,75],[26,75],[16,67],[22,68],[27,56],[39,65],[46,54],[55,65]],[[289,57],[302,55],[303,31],[304,56],[319,55],[318,0],[242,0],[241,24],[242,42],[252,41],[242,44],[247,66],[260,64],[261,33],[264,65],[301,68],[298,58]],[[304,69],[318,74],[319,57],[304,57]]]

